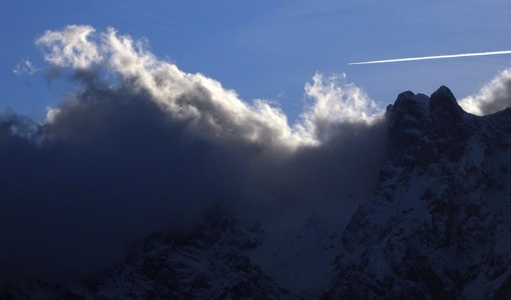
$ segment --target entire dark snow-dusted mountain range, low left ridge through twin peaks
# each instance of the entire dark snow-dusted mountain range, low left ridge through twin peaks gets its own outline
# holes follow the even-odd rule
[[[477,117],[442,86],[400,94],[386,123],[378,186],[347,226],[318,210],[275,235],[214,214],[87,285],[0,299],[511,299],[511,109]]]

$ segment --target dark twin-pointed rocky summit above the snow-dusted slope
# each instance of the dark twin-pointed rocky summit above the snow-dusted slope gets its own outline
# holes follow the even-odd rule
[[[401,93],[387,108],[390,158],[404,166],[427,166],[444,154],[459,159],[473,125],[467,115],[446,86],[431,98]]]

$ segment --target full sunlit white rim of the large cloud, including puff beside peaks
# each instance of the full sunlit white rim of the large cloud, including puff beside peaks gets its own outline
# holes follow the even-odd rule
[[[89,39],[94,32],[90,26],[68,26],[63,31],[47,31],[37,43],[49,50],[45,59],[59,66],[88,68],[101,62],[134,89],[147,92],[173,118],[190,121],[190,127],[201,134],[296,149],[322,142],[330,125],[370,123],[382,115],[381,107],[362,89],[341,82],[345,75],[325,79],[316,74],[314,83],[305,86],[314,103],[300,123],[289,126],[285,114],[268,101],[248,104],[220,82],[182,72],[156,58],[142,42],[112,28]]]

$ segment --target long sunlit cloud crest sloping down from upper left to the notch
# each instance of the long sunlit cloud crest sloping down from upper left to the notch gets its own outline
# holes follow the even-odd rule
[[[310,137],[293,132],[282,111],[266,101],[247,104],[218,81],[202,74],[184,73],[175,65],[156,59],[141,42],[127,35],[119,36],[113,29],[99,35],[99,44],[87,39],[92,32],[94,29],[88,26],[48,31],[38,43],[49,50],[45,59],[50,63],[74,68],[105,64],[120,80],[129,81],[131,88],[147,93],[172,118],[188,120],[196,132],[263,143],[271,141],[276,146],[291,148],[314,143]]]

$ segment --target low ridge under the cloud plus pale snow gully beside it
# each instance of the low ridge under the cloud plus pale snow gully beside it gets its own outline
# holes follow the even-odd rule
[[[340,227],[313,213],[284,235],[221,211],[193,232],[158,232],[93,281],[37,279],[1,300],[317,299],[335,275]]]

